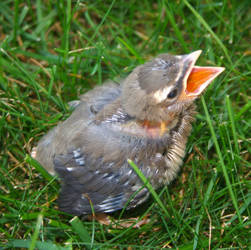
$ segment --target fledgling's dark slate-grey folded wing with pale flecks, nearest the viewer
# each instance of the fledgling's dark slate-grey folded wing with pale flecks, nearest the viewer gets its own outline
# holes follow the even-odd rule
[[[62,181],[58,203],[65,212],[91,214],[92,207],[95,212],[113,212],[122,209],[129,198],[125,192],[128,181],[119,173],[88,167],[80,149],[56,155],[54,168]]]

